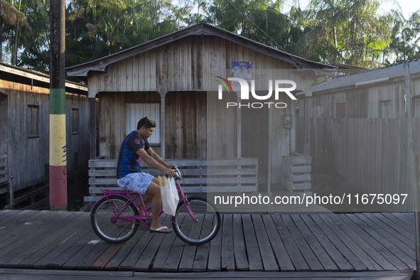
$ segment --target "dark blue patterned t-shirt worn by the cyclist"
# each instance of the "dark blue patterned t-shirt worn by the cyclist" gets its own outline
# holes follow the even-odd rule
[[[117,163],[117,179],[121,179],[129,173],[140,171],[141,157],[136,154],[138,149],[148,150],[150,148],[147,139],[141,140],[137,131],[131,131],[122,141],[119,148]]]

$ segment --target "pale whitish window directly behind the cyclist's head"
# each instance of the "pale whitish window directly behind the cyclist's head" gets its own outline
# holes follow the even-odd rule
[[[137,123],[143,117],[151,117],[156,122],[156,129],[150,136],[150,144],[159,144],[161,141],[159,124],[161,120],[160,103],[127,103],[126,104],[126,135],[137,129]]]

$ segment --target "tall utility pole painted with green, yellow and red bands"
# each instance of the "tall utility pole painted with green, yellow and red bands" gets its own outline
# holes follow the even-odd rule
[[[65,0],[50,0],[50,210],[67,210]]]

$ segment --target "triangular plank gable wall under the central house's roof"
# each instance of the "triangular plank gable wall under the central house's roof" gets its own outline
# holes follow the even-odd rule
[[[264,55],[217,36],[189,36],[90,72],[89,97],[98,92],[215,91],[215,75],[225,75],[232,62],[252,62],[257,90],[268,90],[267,77],[294,80],[298,90],[311,92],[308,73],[294,65]],[[276,72],[267,72],[274,69]],[[220,71],[223,70],[223,71]]]

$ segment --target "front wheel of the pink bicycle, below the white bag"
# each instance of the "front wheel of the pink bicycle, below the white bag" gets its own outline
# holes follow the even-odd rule
[[[184,202],[178,204],[176,215],[172,217],[173,231],[188,244],[210,242],[220,230],[220,213],[206,198],[190,197],[186,200],[187,205]],[[188,208],[197,217],[197,222],[194,222]]]

